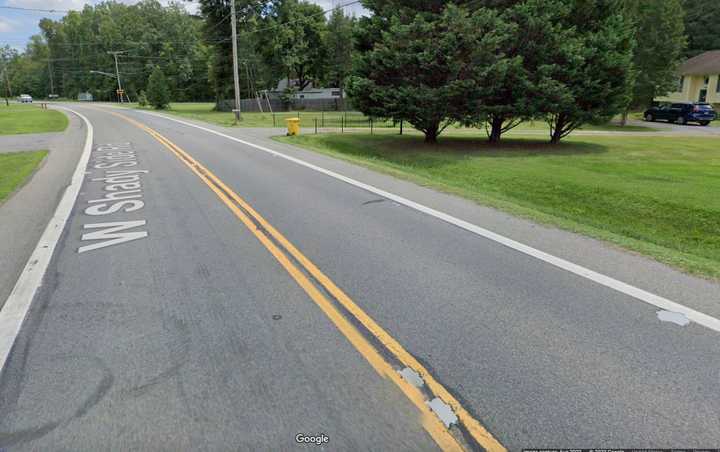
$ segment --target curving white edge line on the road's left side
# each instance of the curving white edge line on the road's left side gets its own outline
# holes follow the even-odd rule
[[[80,192],[92,151],[93,127],[90,121],[85,116],[69,108],[57,108],[70,111],[83,120],[86,128],[85,147],[80,156],[80,161],[75,167],[72,179],[70,179],[70,185],[65,188],[62,199],[55,208],[55,213],[50,218],[45,231],[35,246],[35,250],[30,255],[22,273],[20,273],[15,287],[13,287],[7,301],[5,301],[5,305],[0,310],[0,372],[5,369],[5,364],[20,332],[20,327],[25,321],[30,304],[42,285],[42,279],[50,264],[55,246],[63,229],[65,229],[65,224]]]

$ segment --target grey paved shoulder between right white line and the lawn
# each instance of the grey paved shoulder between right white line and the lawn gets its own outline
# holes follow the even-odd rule
[[[178,119],[172,117],[168,117],[168,119],[178,121]],[[491,207],[478,205],[473,201],[458,196],[438,192],[406,180],[372,171],[360,165],[273,140],[271,137],[281,134],[282,129],[237,129],[184,118],[181,121],[239,139],[252,141],[273,151],[301,159],[312,165],[342,174],[364,184],[372,185],[490,231],[500,233],[512,240],[668,298],[705,314],[714,317],[720,316],[720,303],[718,303],[717,299],[718,294],[720,294],[719,283],[688,275],[668,265],[621,249],[610,243],[560,230],[552,226],[537,224]],[[318,175],[318,177],[325,176]]]

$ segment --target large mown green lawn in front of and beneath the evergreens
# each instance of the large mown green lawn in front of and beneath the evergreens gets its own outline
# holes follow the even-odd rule
[[[444,139],[443,139],[444,138]],[[558,146],[477,136],[278,137],[720,277],[720,141],[578,136]]]

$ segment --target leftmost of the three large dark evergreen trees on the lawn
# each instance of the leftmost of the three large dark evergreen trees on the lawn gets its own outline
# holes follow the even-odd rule
[[[448,125],[467,121],[470,94],[505,64],[510,31],[486,8],[417,2],[413,14],[412,2],[391,3],[366,4],[374,15],[361,21],[348,93],[365,114],[407,121],[433,143]]]

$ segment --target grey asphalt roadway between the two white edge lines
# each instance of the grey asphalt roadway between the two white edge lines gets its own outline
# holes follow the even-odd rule
[[[720,445],[717,331],[251,146],[72,108],[93,152],[0,377],[0,446]],[[413,398],[443,389],[449,433]]]

